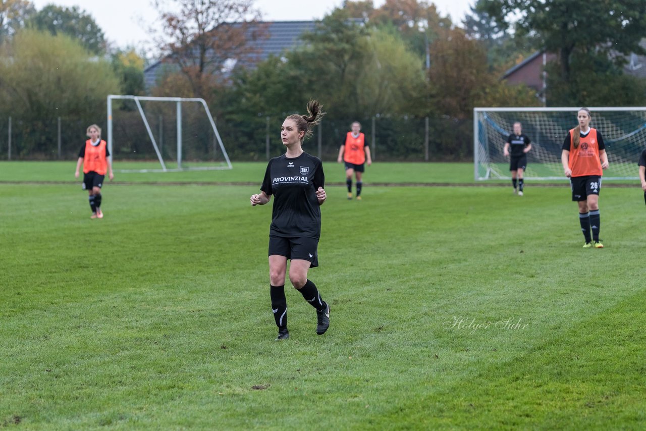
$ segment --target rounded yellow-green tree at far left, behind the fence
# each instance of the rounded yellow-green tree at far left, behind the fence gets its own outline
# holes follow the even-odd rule
[[[59,117],[74,122],[71,132],[78,140],[84,124],[105,119],[105,98],[118,92],[119,81],[109,63],[90,58],[77,41],[21,30],[0,50],[2,58],[11,59],[0,61],[0,114],[20,121],[16,132],[23,136],[23,153],[36,156],[56,148]]]

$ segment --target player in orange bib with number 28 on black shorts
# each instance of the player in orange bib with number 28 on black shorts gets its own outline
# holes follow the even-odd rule
[[[565,176],[570,178],[572,200],[579,204],[579,222],[585,237],[583,248],[603,248],[599,240],[599,190],[603,169],[608,167],[608,155],[601,132],[590,127],[590,110],[579,109],[577,118],[579,125],[570,130],[563,142],[561,163]]]

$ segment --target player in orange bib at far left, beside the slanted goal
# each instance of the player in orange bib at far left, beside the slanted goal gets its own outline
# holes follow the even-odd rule
[[[114,178],[112,173],[112,163],[110,163],[110,152],[107,143],[101,140],[101,128],[92,124],[87,128],[87,137],[89,140],[79,151],[79,160],[76,163],[76,172],[74,177],[79,177],[79,169],[83,165],[83,190],[89,193],[90,208],[92,216],[90,218],[103,218],[101,211],[101,187],[105,174],[109,174],[110,181]]]

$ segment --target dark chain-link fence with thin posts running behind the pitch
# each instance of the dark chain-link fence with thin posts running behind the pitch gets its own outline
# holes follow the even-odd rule
[[[152,136],[165,160],[176,160],[177,121],[173,105],[145,112]],[[244,120],[215,118],[229,158],[233,161],[267,160],[284,152],[280,125],[284,118],[257,116]],[[380,116],[338,120],[326,117],[304,143],[305,151],[336,160],[352,121],[360,121],[374,160],[464,161],[473,156],[471,120]],[[0,118],[0,160],[73,160],[87,140],[85,130],[97,123],[107,139],[105,117],[26,121]],[[115,160],[156,160],[147,129],[136,110],[113,114]],[[183,160],[222,160],[213,129],[198,109],[182,107]]]

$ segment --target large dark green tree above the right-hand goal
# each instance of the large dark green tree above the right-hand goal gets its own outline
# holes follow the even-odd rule
[[[552,94],[548,100],[569,100],[571,104],[586,103],[574,90],[585,75],[614,72],[620,76],[625,56],[631,52],[644,54],[639,43],[646,34],[646,2],[643,0],[489,0],[483,10],[499,25],[516,22],[516,37],[536,36],[537,49],[557,54],[558,68],[552,68],[550,80],[558,79],[566,92]],[[619,55],[618,55],[619,54]],[[599,67],[576,69],[574,64]],[[585,70],[585,72],[583,72]],[[605,72],[603,72],[605,73]],[[616,99],[607,100],[616,104]]]

